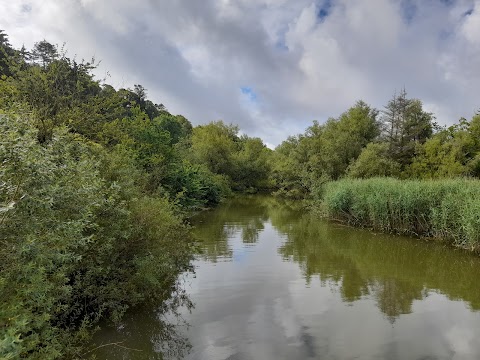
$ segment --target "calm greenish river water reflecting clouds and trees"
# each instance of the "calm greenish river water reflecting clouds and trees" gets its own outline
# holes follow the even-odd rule
[[[480,359],[478,257],[291,205],[242,197],[195,219],[186,359]],[[131,314],[97,340],[138,351],[98,358],[155,358],[158,324]]]

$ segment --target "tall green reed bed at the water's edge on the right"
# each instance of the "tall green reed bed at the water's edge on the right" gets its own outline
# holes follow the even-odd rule
[[[480,181],[344,179],[327,183],[317,208],[353,226],[480,248]]]

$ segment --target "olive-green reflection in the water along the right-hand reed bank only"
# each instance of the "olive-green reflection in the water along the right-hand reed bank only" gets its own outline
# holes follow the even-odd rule
[[[298,262],[307,281],[318,275],[340,284],[347,302],[371,295],[393,321],[412,312],[414,300],[428,290],[462,299],[479,309],[479,259],[439,244],[373,234],[319,221],[304,214],[273,225],[287,235],[279,248],[285,259]]]

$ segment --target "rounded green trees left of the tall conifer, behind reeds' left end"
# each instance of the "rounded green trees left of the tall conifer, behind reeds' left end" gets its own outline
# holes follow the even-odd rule
[[[290,137],[275,149],[272,177],[279,194],[303,197],[326,180],[345,175],[362,149],[380,133],[378,112],[357,102],[338,119],[318,122],[304,135]]]

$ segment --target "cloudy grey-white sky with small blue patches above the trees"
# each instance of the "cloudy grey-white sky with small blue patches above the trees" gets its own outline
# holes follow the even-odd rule
[[[403,87],[441,124],[480,108],[480,0],[0,0],[0,29],[271,146]]]

